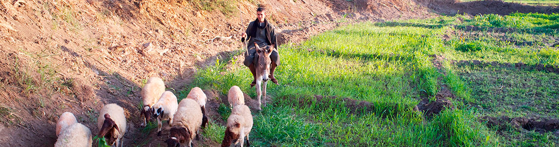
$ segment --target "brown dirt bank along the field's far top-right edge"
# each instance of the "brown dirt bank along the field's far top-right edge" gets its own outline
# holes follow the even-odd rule
[[[460,2],[456,0],[420,0],[425,6],[439,13],[447,15],[455,15],[457,13],[468,13],[470,15],[477,14],[499,14],[508,15],[513,12],[520,13],[557,13],[559,7],[555,6],[530,6],[520,3],[510,3],[503,1],[470,1]]]

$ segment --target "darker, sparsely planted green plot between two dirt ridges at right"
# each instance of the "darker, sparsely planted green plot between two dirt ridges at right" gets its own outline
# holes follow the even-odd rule
[[[558,74],[472,66],[458,68],[457,73],[472,89],[472,105],[490,115],[559,117]]]

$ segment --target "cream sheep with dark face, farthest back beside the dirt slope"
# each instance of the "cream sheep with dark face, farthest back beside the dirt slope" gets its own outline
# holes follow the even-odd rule
[[[150,116],[153,115],[151,107],[159,101],[163,92],[165,92],[165,83],[163,83],[163,79],[158,77],[149,78],[144,88],[141,89],[141,97],[144,102],[144,108],[141,110],[144,123],[141,126],[147,125]]]

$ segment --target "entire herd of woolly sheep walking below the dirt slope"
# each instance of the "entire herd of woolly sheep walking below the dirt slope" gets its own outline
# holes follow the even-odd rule
[[[141,116],[144,117],[143,126],[150,117],[158,122],[157,135],[161,135],[162,121],[168,120],[170,135],[165,140],[168,146],[193,146],[192,140],[198,138],[198,130],[206,127],[206,94],[202,89],[192,88],[188,96],[177,102],[173,92],[165,91],[165,84],[161,78],[150,78],[142,88],[141,97],[144,107]],[[244,105],[243,92],[238,86],[229,89],[228,100],[231,115],[227,119],[225,137],[221,146],[244,145],[249,143],[249,132],[252,129],[253,118],[248,106]],[[99,111],[97,127],[98,137],[105,138],[108,145],[123,146],[122,137],[126,133],[126,116],[124,109],[115,103],[103,106]],[[87,126],[77,122],[70,112],[64,112],[56,122],[58,139],[54,146],[92,146],[92,133]]]

